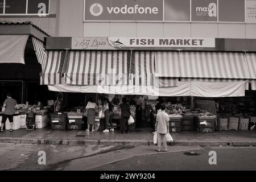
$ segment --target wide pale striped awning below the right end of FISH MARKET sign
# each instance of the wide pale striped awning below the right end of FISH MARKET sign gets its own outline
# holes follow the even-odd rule
[[[181,52],[181,78],[249,79],[244,53]]]

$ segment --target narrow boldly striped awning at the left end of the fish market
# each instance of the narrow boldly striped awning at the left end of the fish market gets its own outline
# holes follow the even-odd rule
[[[46,64],[42,67],[41,85],[63,84],[61,76],[64,64],[65,52],[47,51]]]

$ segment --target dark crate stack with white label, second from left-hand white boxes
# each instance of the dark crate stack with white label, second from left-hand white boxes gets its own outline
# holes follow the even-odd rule
[[[68,130],[82,129],[82,113],[68,113]]]

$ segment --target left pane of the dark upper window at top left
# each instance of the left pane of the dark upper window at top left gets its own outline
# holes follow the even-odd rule
[[[6,0],[5,14],[26,14],[26,0]]]

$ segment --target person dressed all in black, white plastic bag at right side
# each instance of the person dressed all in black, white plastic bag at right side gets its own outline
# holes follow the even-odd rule
[[[125,97],[122,98],[122,104],[121,107],[121,133],[123,134],[125,131],[126,133],[129,133],[129,125],[128,125],[128,119],[131,115],[130,105],[127,104],[127,100]]]

